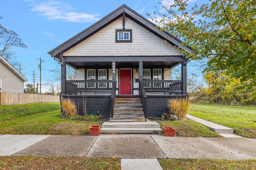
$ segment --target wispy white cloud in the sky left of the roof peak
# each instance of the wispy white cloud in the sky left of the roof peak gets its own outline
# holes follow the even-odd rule
[[[97,18],[100,14],[73,12],[74,9],[70,7],[70,4],[59,1],[42,2],[40,4],[33,4],[32,6],[32,11],[38,12],[39,15],[46,16],[48,20],[68,22],[95,22],[100,20],[100,18]]]

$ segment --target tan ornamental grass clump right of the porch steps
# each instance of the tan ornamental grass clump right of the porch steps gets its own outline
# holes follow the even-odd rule
[[[176,115],[178,119],[186,118],[188,113],[188,103],[184,99],[170,99],[167,101],[169,113]]]

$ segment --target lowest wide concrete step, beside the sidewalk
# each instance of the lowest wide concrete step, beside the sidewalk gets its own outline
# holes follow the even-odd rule
[[[162,133],[160,128],[101,128],[100,133],[156,134]]]

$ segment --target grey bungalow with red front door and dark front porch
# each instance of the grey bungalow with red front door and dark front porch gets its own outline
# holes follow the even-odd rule
[[[48,53],[61,63],[61,97],[74,100],[80,115],[86,101],[89,114],[145,121],[166,112],[168,99],[188,97],[188,60],[174,46],[193,51],[181,42],[123,5]],[[173,80],[178,65],[181,80]]]

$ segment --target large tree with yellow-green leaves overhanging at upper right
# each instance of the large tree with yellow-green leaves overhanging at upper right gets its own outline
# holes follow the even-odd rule
[[[162,6],[167,13],[156,10],[152,20],[197,53],[188,54],[176,47],[185,57],[206,57],[208,66],[204,72],[222,70],[225,75],[255,86],[256,1],[214,0],[200,7],[195,4],[191,9],[187,2],[174,0],[170,8]]]

